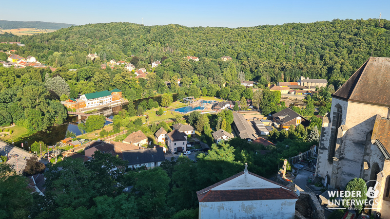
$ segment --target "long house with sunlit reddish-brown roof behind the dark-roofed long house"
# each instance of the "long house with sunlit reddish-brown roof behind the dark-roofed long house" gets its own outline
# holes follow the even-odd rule
[[[87,148],[84,151],[84,154],[87,158],[92,158],[92,155],[95,151],[99,150],[102,153],[109,153],[113,156],[118,156],[120,159],[123,159],[123,151],[129,150],[138,150],[139,146],[132,144],[114,142],[114,141],[92,141],[88,144]]]

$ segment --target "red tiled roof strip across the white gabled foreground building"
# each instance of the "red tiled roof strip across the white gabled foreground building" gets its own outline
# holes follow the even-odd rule
[[[285,188],[210,190],[199,202],[298,199]]]

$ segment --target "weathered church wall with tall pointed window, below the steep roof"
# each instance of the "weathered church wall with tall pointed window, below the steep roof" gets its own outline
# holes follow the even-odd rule
[[[336,106],[341,107],[341,127],[335,133]],[[388,108],[332,99],[331,113],[324,118],[316,173],[330,176],[331,188],[343,188],[351,179],[360,177],[367,135],[373,129],[375,116],[387,116]],[[334,159],[328,159],[332,138],[336,139]],[[366,159],[367,160],[367,159]]]

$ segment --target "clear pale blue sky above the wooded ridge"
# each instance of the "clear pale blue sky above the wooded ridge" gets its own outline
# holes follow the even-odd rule
[[[19,1],[23,5],[23,0]],[[249,27],[339,19],[390,19],[390,0],[39,0],[2,10],[0,19],[71,24],[131,22],[145,25]]]

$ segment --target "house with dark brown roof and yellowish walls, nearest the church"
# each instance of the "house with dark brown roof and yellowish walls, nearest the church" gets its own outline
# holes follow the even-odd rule
[[[272,115],[273,122],[277,124],[276,128],[290,128],[291,125],[297,126],[306,121],[301,115],[290,108],[286,108]]]

